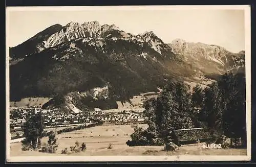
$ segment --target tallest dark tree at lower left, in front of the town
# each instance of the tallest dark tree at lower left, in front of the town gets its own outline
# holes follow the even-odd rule
[[[42,132],[44,131],[44,118],[41,112],[30,115],[24,126],[25,139],[22,141],[24,147],[36,150],[40,145]],[[26,149],[25,149],[26,150]]]

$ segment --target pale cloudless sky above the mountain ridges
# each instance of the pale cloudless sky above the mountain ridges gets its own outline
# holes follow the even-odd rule
[[[59,23],[99,21],[115,24],[131,34],[153,31],[165,43],[176,38],[225,47],[237,53],[245,50],[244,10],[10,10],[7,13],[8,45],[16,46],[38,32]]]

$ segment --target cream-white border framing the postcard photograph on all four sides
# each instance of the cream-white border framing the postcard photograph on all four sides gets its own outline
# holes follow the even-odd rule
[[[79,10],[244,10],[245,11],[245,68],[246,68],[246,121],[247,155],[243,156],[10,156],[10,103],[9,103],[9,19],[11,11],[79,11]],[[7,7],[6,8],[6,157],[7,162],[61,162],[61,161],[242,161],[251,159],[251,33],[249,5],[214,6],[73,6],[73,7]]]

